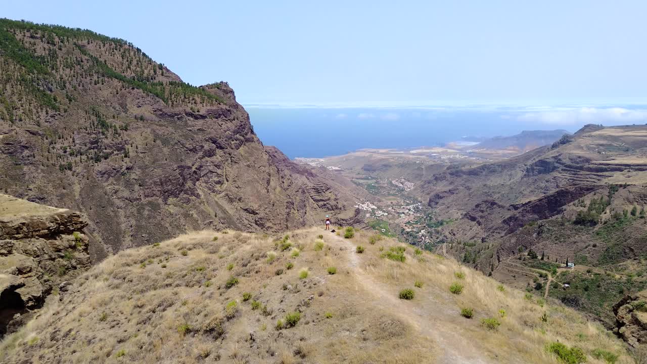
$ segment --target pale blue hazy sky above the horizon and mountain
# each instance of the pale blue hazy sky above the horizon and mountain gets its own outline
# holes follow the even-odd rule
[[[6,1],[243,104],[642,102],[647,1]]]

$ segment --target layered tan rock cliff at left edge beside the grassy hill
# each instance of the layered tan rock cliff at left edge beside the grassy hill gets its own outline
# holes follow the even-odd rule
[[[86,225],[78,212],[0,195],[0,336],[90,266]]]

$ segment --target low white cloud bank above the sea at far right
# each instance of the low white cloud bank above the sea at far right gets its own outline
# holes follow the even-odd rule
[[[632,124],[647,122],[647,109],[556,108],[522,113],[519,119],[554,125]]]

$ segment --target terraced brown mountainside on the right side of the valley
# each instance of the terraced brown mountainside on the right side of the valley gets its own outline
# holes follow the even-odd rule
[[[415,192],[446,222],[435,238],[448,253],[518,288],[549,286],[613,328],[613,305],[647,287],[646,155],[647,126],[591,125],[505,161],[449,166]]]

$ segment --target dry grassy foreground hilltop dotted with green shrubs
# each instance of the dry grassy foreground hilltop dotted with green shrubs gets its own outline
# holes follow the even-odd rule
[[[125,249],[0,343],[13,363],[633,363],[599,323],[455,260],[322,229]]]

